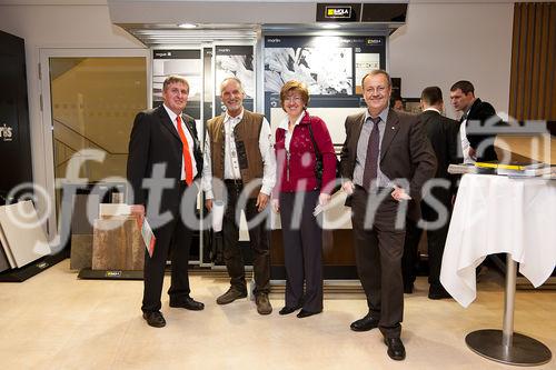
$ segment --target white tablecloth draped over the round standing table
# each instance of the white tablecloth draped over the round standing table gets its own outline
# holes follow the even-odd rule
[[[475,269],[487,254],[512,253],[534,287],[556,266],[556,181],[504,176],[461,178],[440,282],[461,306],[476,297]]]

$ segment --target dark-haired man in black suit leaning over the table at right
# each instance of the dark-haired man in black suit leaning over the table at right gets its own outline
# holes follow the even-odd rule
[[[493,119],[496,111],[486,101],[475,98],[475,87],[469,81],[457,81],[450,88],[450,101],[456,111],[460,111],[459,136],[461,140],[461,152],[465,163],[474,163],[475,161],[486,162],[496,161],[496,152],[494,150],[493,129],[485,123],[494,120],[496,126],[502,124],[499,118]],[[469,123],[476,121],[480,126],[483,132],[469,130]]]

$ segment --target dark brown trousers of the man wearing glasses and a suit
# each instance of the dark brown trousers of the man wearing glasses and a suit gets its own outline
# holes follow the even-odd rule
[[[398,202],[389,196],[378,206],[371,228],[366,228],[368,201],[368,193],[356,187],[351,224],[357,272],[369,312],[378,319],[380,332],[386,338],[399,338],[404,318],[401,256],[405,229],[395,228]]]

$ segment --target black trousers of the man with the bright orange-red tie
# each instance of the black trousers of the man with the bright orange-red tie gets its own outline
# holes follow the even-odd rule
[[[182,197],[187,184],[179,181],[179,193]],[[181,198],[180,197],[180,198]],[[193,209],[190,210],[193,212]],[[148,213],[147,213],[148,214]],[[149,220],[153,224],[157,220]],[[189,297],[189,249],[191,247],[192,230],[181,220],[181,212],[173,213],[166,224],[152,230],[157,238],[152,258],[145,252],[145,290],[141,310],[143,312],[159,311],[160,296],[165,279],[166,261],[171,249],[171,284],[168,290],[171,301],[179,302]]]

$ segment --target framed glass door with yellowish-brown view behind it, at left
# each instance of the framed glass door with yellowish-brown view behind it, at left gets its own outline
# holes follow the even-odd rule
[[[63,239],[69,231],[60,228],[70,222],[63,219],[64,189],[77,186],[79,193],[93,183],[126,178],[133,118],[150,107],[149,76],[147,50],[41,50],[44,150],[43,158],[33,160],[44,163],[51,239]],[[87,206],[77,198],[72,202],[72,210]],[[72,213],[70,227],[87,229],[85,213]]]

